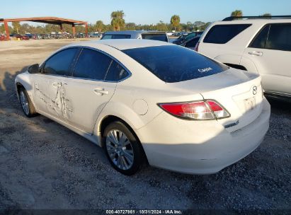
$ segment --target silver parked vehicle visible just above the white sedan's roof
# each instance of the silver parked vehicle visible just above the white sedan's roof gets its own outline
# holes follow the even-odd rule
[[[147,30],[109,31],[103,34],[101,40],[108,39],[146,39],[169,42],[168,36],[165,32]]]

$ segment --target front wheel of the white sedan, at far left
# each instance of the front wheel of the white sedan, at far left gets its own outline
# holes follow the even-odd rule
[[[34,117],[37,115],[33,103],[31,102],[28,93],[25,91],[25,88],[21,87],[18,91],[19,101],[21,103],[21,108],[26,117]]]

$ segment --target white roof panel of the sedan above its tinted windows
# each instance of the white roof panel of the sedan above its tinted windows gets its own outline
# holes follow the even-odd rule
[[[86,46],[86,47],[98,47],[98,45],[108,45],[114,47],[117,50],[129,50],[141,47],[154,47],[162,45],[173,45],[169,42],[162,42],[159,40],[135,40],[135,39],[115,39],[115,40],[97,40],[89,42],[72,43],[70,46]]]

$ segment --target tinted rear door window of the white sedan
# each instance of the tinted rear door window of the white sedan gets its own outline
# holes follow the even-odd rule
[[[83,49],[76,62],[73,76],[81,79],[104,80],[111,59],[101,52]]]

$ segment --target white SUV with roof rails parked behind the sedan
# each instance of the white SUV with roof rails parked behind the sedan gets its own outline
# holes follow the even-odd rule
[[[291,97],[291,16],[225,18],[205,30],[195,50],[257,72],[266,93]]]

